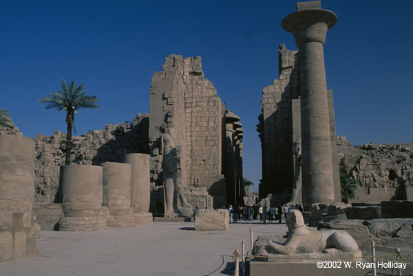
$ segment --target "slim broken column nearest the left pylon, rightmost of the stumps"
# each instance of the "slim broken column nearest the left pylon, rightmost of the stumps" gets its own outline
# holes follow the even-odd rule
[[[131,165],[131,207],[133,207],[134,213],[140,216],[140,222],[136,220],[136,224],[151,224],[152,214],[149,213],[151,200],[149,154],[126,154],[123,163]]]

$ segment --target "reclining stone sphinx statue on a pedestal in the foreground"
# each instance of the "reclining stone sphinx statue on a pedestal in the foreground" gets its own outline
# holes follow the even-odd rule
[[[293,255],[297,253],[352,253],[361,257],[357,242],[346,231],[315,230],[306,227],[299,210],[290,209],[286,224],[288,238],[283,244],[268,239],[258,239],[254,244],[254,255]]]

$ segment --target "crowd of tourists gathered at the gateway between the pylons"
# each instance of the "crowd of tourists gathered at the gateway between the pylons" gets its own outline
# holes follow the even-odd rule
[[[269,223],[273,223],[274,220],[282,223],[282,215],[284,214],[285,221],[289,209],[303,211],[301,205],[276,205],[269,208],[266,205],[264,207],[261,205],[236,205],[235,207],[229,205],[229,223],[237,223],[240,220],[257,220],[258,216],[260,216],[260,222],[264,224],[267,220]]]

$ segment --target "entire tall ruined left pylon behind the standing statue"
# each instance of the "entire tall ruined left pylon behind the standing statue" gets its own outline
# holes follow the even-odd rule
[[[163,133],[171,135],[175,142],[177,186],[188,203],[193,207],[212,207],[213,196],[215,204],[225,204],[224,109],[215,87],[204,78],[201,58],[168,56],[163,70],[153,73],[150,106],[151,210],[163,200]]]

